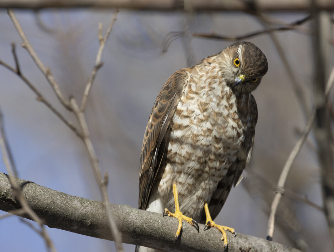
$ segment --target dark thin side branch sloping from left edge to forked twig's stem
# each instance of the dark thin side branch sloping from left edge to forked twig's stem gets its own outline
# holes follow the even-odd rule
[[[18,60],[16,61],[16,64],[17,64],[17,66],[19,66]],[[42,93],[39,92],[38,89],[21,72],[18,72],[17,69],[12,68],[11,66],[9,66],[7,63],[3,62],[2,60],[0,60],[0,65],[3,65],[7,69],[9,69],[13,73],[15,73],[17,76],[19,76],[28,85],[28,87],[36,94],[37,101],[40,101],[40,102],[44,103],[44,105],[46,105],[56,116],[58,116],[59,119],[63,123],[65,123],[67,125],[67,127],[70,128],[78,137],[80,137],[80,138],[82,137],[81,133],[76,129],[76,127],[72,123],[70,123],[59,111],[57,111],[55,109],[55,107],[53,107],[48,102],[48,100],[45,99],[45,97],[42,95]]]

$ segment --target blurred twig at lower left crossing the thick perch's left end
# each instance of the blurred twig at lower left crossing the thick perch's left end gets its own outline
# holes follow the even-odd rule
[[[3,124],[2,121],[2,116],[0,116],[0,124]],[[3,125],[1,125],[1,128],[3,128]],[[2,153],[2,159],[3,162],[6,166],[7,172],[9,174],[8,176],[8,180],[11,184],[11,187],[13,189],[13,195],[15,196],[15,198],[17,199],[17,201],[19,202],[20,206],[22,207],[22,209],[24,209],[24,212],[35,222],[37,222],[40,226],[41,229],[41,235],[45,241],[46,247],[52,251],[52,252],[56,252],[56,249],[48,235],[48,233],[46,232],[46,230],[44,229],[43,226],[43,221],[36,215],[36,213],[30,208],[30,206],[27,204],[27,201],[24,199],[24,197],[22,196],[21,193],[21,187],[18,185],[18,183],[16,183],[15,179],[14,179],[14,174],[13,174],[13,167],[11,166],[9,157],[8,157],[8,150],[6,148],[6,146],[8,146],[8,144],[5,143],[5,138],[2,135],[3,131],[0,131],[0,148],[1,148],[1,153]]]

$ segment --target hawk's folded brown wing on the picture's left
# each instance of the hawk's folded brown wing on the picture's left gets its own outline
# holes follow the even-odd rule
[[[139,209],[147,208],[163,157],[163,138],[180,101],[183,87],[187,84],[188,76],[189,69],[181,69],[169,77],[152,108],[140,157]]]

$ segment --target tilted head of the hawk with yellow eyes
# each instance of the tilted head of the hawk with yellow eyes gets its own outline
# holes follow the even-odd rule
[[[264,53],[250,42],[238,42],[220,53],[223,78],[232,90],[250,93],[268,71]]]

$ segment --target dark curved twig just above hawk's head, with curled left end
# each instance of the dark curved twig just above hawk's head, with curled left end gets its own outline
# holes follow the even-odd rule
[[[306,21],[308,21],[311,17],[310,16],[306,16],[302,19],[299,19],[297,21],[294,21],[292,23],[286,24],[286,25],[282,25],[280,27],[267,27],[266,29],[263,30],[259,30],[259,31],[255,31],[255,32],[251,32],[251,33],[246,33],[246,34],[242,34],[242,35],[237,35],[237,36],[224,36],[224,35],[219,35],[216,34],[215,32],[211,31],[210,33],[193,33],[192,36],[193,37],[202,37],[202,38],[213,38],[213,39],[222,39],[222,40],[230,40],[230,41],[234,41],[234,40],[241,40],[241,39],[245,39],[245,38],[250,38],[250,37],[254,37],[254,36],[258,36],[264,33],[270,33],[273,31],[287,31],[287,30],[294,30],[296,29],[296,26],[301,25],[303,23],[305,23]],[[183,37],[183,36],[187,36],[188,34],[184,31],[171,31],[168,32],[167,35],[165,36],[163,42],[162,42],[162,49],[161,49],[161,53],[164,54],[167,52],[169,45],[172,43],[173,40]]]

